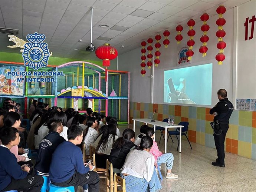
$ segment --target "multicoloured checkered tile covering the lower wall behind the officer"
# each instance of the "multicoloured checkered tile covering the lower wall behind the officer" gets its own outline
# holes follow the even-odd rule
[[[213,115],[209,114],[210,108],[131,102],[130,122],[132,118],[151,117],[152,119],[155,109],[157,113],[154,119],[163,120],[174,117],[176,124],[188,121],[189,140],[215,148],[213,129],[210,126],[210,122],[213,121]],[[226,152],[256,159],[256,112],[234,110],[229,122],[225,142]],[[137,126],[142,125],[142,123],[137,123]]]

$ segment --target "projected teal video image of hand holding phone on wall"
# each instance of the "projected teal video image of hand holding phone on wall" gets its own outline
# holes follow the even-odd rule
[[[164,103],[211,105],[213,64],[164,72]]]

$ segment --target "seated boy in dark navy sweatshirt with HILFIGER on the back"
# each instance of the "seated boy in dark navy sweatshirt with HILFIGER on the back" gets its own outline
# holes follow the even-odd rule
[[[52,154],[58,145],[65,141],[65,139],[60,136],[60,133],[63,131],[63,125],[60,120],[55,120],[54,118],[49,119],[47,127],[49,128],[50,133],[43,138],[39,145],[35,165],[36,171],[39,175],[43,176],[49,176]]]

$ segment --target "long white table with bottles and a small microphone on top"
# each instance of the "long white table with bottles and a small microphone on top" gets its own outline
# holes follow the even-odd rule
[[[172,125],[168,125],[168,123],[166,122],[163,122],[163,121],[155,121],[155,122],[151,122],[152,119],[132,119],[133,120],[133,130],[135,132],[135,121],[138,121],[138,122],[142,122],[142,123],[146,123],[147,124],[150,124],[150,125],[154,125],[154,131],[155,131],[155,126],[160,126],[160,127],[163,127],[165,128],[165,141],[164,141],[164,146],[165,146],[165,149],[164,149],[164,152],[166,153],[167,151],[167,130],[169,128],[183,128],[184,126],[183,125],[176,125],[174,124],[173,126]],[[155,140],[155,138],[154,138]],[[180,150],[179,152],[181,153],[181,131],[180,131]]]

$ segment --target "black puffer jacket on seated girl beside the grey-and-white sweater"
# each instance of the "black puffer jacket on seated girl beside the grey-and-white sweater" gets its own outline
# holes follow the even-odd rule
[[[131,148],[137,147],[137,145],[132,143],[130,140],[124,139],[124,141],[125,144],[122,148],[111,149],[109,162],[113,164],[113,168],[121,169]]]

